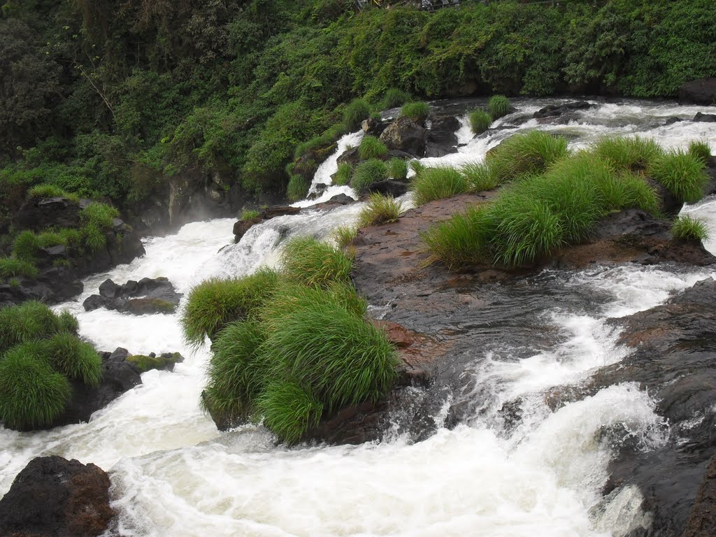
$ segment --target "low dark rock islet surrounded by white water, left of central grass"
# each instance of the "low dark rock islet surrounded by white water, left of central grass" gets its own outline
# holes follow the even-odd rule
[[[84,311],[105,308],[134,315],[173,314],[182,296],[168,279],[161,276],[130,280],[121,286],[105,280],[100,285],[100,294],[87,297],[82,306]]]

